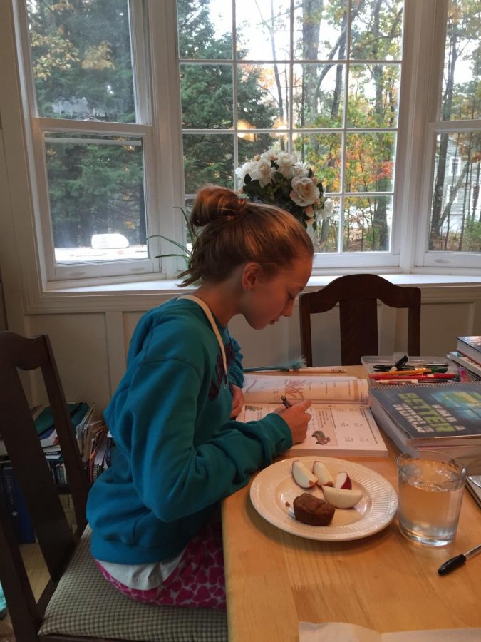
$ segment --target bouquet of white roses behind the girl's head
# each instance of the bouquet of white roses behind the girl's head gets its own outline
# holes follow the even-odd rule
[[[270,203],[293,214],[305,228],[316,230],[317,214],[324,209],[323,187],[311,168],[294,154],[269,149],[237,168],[240,193],[257,203]]]

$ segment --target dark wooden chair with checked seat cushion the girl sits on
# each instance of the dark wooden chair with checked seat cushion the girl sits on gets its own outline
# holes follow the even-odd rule
[[[41,369],[75,507],[75,533],[58,498],[18,368]],[[95,566],[85,514],[88,480],[46,335],[27,339],[0,332],[0,432],[50,576],[36,601],[0,492],[0,581],[17,642],[227,640],[222,611],[137,603],[110,586]]]

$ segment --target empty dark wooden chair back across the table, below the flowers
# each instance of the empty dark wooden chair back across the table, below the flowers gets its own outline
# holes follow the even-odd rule
[[[420,354],[421,291],[374,274],[338,277],[316,292],[299,297],[301,352],[312,365],[311,315],[339,304],[341,364],[359,365],[363,355],[378,355],[378,300],[390,307],[408,308],[408,354]]]

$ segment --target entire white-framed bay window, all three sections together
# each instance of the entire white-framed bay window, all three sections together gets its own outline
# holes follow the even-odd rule
[[[175,275],[178,208],[272,147],[333,200],[315,269],[479,268],[479,0],[16,9],[46,282]]]

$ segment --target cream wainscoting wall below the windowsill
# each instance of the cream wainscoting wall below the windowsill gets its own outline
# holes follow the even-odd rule
[[[160,297],[163,302],[167,296]],[[127,307],[127,306],[126,306]],[[70,399],[95,402],[100,414],[125,370],[130,337],[145,309],[36,314],[25,317],[26,335],[50,336],[58,370]],[[378,314],[381,354],[403,350],[405,311],[380,306]],[[229,324],[244,354],[244,365],[261,366],[286,362],[299,356],[299,309],[262,331],[252,330],[241,317]],[[479,286],[423,287],[421,349],[424,355],[444,355],[453,350],[457,335],[481,335],[481,288]],[[340,361],[338,309],[313,319],[314,363]],[[43,392],[33,382],[33,402]]]

